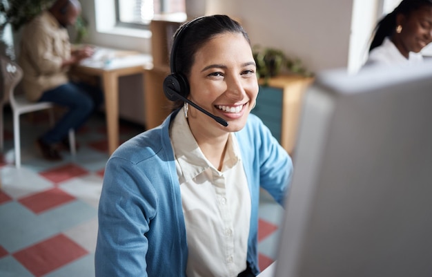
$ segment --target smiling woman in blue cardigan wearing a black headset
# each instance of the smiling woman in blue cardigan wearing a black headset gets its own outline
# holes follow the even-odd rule
[[[293,164],[250,114],[251,42],[226,15],[199,17],[177,29],[170,57],[164,89],[184,108],[106,164],[96,276],[256,276],[259,193],[282,204]]]

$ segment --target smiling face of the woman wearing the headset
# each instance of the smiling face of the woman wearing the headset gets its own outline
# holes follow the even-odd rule
[[[239,131],[258,94],[256,66],[248,41],[239,33],[219,34],[199,48],[194,58],[188,77],[188,99],[222,117],[228,126],[189,105],[190,128],[213,135]]]

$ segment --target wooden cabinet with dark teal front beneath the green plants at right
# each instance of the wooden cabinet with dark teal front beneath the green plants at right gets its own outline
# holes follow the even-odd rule
[[[302,99],[313,78],[298,75],[279,75],[260,82],[257,105],[252,113],[268,126],[279,143],[293,154]]]

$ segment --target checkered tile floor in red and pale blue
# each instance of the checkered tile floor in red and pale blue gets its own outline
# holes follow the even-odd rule
[[[97,204],[108,159],[105,119],[94,115],[76,134],[75,157],[41,159],[35,140],[48,128],[46,115],[21,116],[21,160],[13,159],[12,116],[5,109],[5,146],[0,153],[0,276],[94,276]],[[120,122],[120,140],[142,126]],[[263,193],[259,209],[259,266],[275,260],[283,210]]]

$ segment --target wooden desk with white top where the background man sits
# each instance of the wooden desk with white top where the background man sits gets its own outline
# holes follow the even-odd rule
[[[151,55],[97,48],[94,58],[82,61],[71,70],[72,75],[92,75],[101,78],[105,95],[109,155],[119,146],[119,77],[142,74],[144,79],[144,69],[149,67],[152,67]]]

